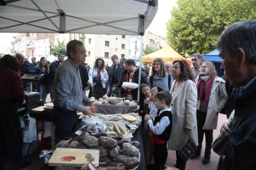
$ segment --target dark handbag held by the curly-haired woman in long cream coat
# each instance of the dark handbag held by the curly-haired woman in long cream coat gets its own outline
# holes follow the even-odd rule
[[[195,145],[195,142],[193,141],[192,132],[190,132],[190,135],[191,135],[191,139],[183,149],[179,150],[179,153],[178,153],[179,157],[183,161],[189,160],[189,158],[191,158],[191,155],[193,155],[197,151],[197,145]],[[181,148],[183,147],[186,137],[187,137],[187,134],[184,136]]]

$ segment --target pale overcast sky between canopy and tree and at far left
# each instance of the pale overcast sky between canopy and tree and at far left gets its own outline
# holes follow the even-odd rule
[[[166,37],[166,23],[171,17],[170,11],[176,5],[177,0],[159,0],[158,1],[158,12],[148,27],[147,30],[152,33],[158,34],[160,36]],[[11,47],[11,41],[14,41],[13,36],[16,36],[17,33],[0,33],[0,49]],[[0,51],[1,52],[1,51]]]

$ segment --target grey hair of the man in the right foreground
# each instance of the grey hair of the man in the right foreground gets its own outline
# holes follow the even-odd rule
[[[221,49],[233,59],[237,48],[244,50],[246,60],[256,65],[256,21],[249,20],[230,25],[220,34],[216,49]]]

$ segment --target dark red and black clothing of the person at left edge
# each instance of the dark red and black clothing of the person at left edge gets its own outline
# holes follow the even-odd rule
[[[0,78],[0,136],[11,156],[23,146],[17,103],[25,100],[25,93],[20,75],[11,68],[0,66]]]

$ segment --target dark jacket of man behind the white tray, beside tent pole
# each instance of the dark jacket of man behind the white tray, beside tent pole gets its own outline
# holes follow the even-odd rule
[[[134,76],[132,77],[132,83],[137,83],[139,84],[139,69],[137,69],[134,73]],[[126,75],[126,82],[129,82],[129,77],[130,77],[130,73],[127,72],[127,75]],[[128,80],[127,80],[128,78]],[[142,71],[142,76],[140,78],[140,83],[143,83],[143,82],[147,82],[147,75]],[[140,88],[140,84],[139,84],[139,88]],[[126,91],[127,93],[128,91]],[[134,89],[132,91],[132,100],[138,100],[138,89]]]

